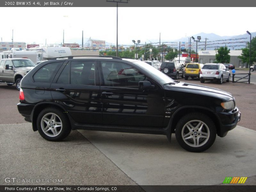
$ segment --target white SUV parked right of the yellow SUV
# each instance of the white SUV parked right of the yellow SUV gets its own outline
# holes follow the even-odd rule
[[[222,63],[206,63],[200,72],[200,82],[204,83],[205,80],[222,84],[223,80],[230,81],[230,73]]]

